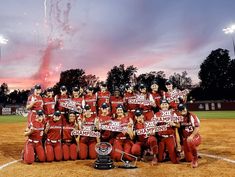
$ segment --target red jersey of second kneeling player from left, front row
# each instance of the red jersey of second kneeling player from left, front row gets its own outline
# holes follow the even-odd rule
[[[47,138],[50,140],[61,140],[62,121],[49,120],[50,128],[47,132]]]

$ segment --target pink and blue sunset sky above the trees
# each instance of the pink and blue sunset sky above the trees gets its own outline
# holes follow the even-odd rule
[[[0,7],[0,34],[9,40],[1,46],[0,84],[11,89],[52,86],[61,71],[76,68],[105,80],[120,64],[136,66],[138,74],[187,71],[197,83],[212,50],[232,51],[222,32],[234,20],[232,1],[55,0],[47,1],[46,11],[41,1],[24,1]]]

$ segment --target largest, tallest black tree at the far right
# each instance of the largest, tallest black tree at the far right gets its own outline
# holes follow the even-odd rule
[[[217,49],[203,61],[200,66],[200,87],[205,99],[229,99],[227,92],[229,83],[229,51]]]

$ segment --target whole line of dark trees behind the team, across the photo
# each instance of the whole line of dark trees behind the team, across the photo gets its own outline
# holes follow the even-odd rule
[[[226,49],[216,49],[211,51],[208,57],[201,63],[198,77],[200,82],[192,84],[192,79],[186,71],[174,73],[166,78],[164,71],[151,71],[136,75],[137,68],[133,65],[125,67],[124,64],[114,66],[107,73],[106,83],[112,92],[115,87],[123,89],[125,83],[144,83],[150,88],[152,80],[158,80],[161,90],[166,90],[165,81],[170,79],[173,85],[179,89],[189,89],[190,100],[235,100],[235,60],[229,56]],[[55,94],[59,92],[61,85],[72,90],[74,86],[93,86],[98,89],[101,81],[96,75],[86,75],[83,69],[70,69],[60,74],[60,80],[54,85]],[[5,104],[25,104],[30,90],[14,90],[9,93],[6,83],[0,87],[0,103]]]

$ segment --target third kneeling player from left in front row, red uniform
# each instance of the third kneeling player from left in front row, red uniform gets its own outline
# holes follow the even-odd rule
[[[66,122],[63,122],[63,140],[62,140],[62,149],[64,160],[76,160],[77,159],[77,143],[74,136],[71,135],[71,132],[77,128],[75,123],[76,113],[70,112]]]

